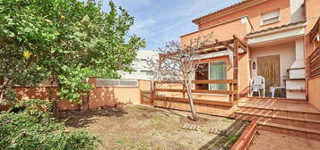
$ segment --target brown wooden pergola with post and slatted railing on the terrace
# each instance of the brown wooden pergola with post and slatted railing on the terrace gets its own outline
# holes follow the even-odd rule
[[[233,52],[233,78],[232,79],[208,79],[208,80],[193,80],[195,84],[229,84],[229,90],[204,90],[204,89],[194,89],[192,90],[193,93],[203,93],[203,94],[222,94],[222,95],[229,95],[229,103],[224,102],[214,102],[208,101],[206,103],[210,104],[219,104],[225,106],[231,106],[235,103],[238,103],[238,50],[241,48],[244,53],[248,52],[249,46],[246,42],[242,41],[237,36],[233,36],[232,39],[229,40],[218,40],[214,39],[214,43],[210,45],[202,46],[198,53],[199,54],[209,54],[209,53],[216,53],[224,50],[231,50]],[[160,60],[166,57],[167,54],[160,54]],[[170,54],[171,55],[171,54]],[[174,55],[172,53],[172,55]],[[161,83],[177,83],[172,81],[161,81],[155,82],[156,84]],[[155,91],[163,91],[163,92],[186,92],[186,89],[165,89],[165,88],[156,88]],[[167,97],[159,97],[160,99],[164,100]],[[176,101],[186,101],[185,98],[171,98],[171,100]],[[203,104],[203,100],[196,100],[195,103],[199,102]],[[205,104],[205,103],[204,103]]]

